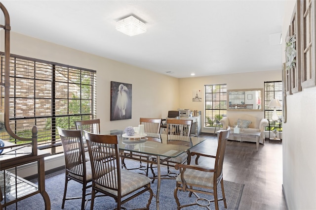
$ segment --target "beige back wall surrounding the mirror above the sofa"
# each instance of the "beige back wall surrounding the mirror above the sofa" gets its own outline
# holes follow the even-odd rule
[[[204,85],[227,84],[228,90],[234,89],[263,89],[264,82],[282,80],[281,70],[261,71],[240,74],[227,74],[208,77],[192,77],[180,79],[179,83],[179,101],[181,108],[202,111],[202,132],[214,132],[213,128],[203,127],[205,122],[204,115]],[[194,90],[201,90],[202,102],[192,102]],[[263,101],[262,101],[263,102]],[[228,116],[240,116],[242,114],[253,115],[257,118],[264,118],[264,112],[242,112],[228,111]]]

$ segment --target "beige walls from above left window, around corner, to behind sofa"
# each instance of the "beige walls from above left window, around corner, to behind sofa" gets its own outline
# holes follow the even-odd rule
[[[19,33],[11,32],[10,36],[11,54],[97,71],[97,118],[102,121],[102,130],[123,129],[129,125],[137,125],[140,117],[165,118],[168,110],[177,108],[202,111],[203,125],[204,102],[192,102],[194,90],[201,90],[201,96],[204,98],[205,84],[226,83],[228,89],[263,89],[265,81],[281,80],[280,70],[176,79]],[[1,51],[3,50],[1,44]],[[131,120],[110,121],[111,81],[132,84]],[[238,112],[238,114],[242,113]],[[234,114],[236,112],[229,112],[229,115]],[[263,112],[247,112],[246,114],[264,118]],[[202,126],[202,132],[213,132],[213,130]]]

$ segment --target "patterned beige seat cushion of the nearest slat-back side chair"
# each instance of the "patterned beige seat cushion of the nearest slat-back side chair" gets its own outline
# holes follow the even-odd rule
[[[117,171],[115,171],[116,174]],[[113,175],[113,174],[112,174]],[[121,195],[124,196],[148,183],[151,182],[151,180],[146,177],[145,175],[142,174],[138,174],[135,172],[131,172],[128,170],[120,170],[120,176],[121,176]],[[104,176],[103,176],[104,177]],[[100,179],[104,179],[103,177],[99,178]],[[111,178],[113,179],[113,177]],[[115,178],[117,181],[117,178]],[[108,189],[104,186],[101,186],[100,184],[96,183],[95,184],[97,188],[111,193],[112,195],[116,195],[118,196],[118,191],[116,190],[112,190],[112,189]]]

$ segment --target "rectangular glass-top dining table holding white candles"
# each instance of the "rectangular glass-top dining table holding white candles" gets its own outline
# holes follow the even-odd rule
[[[100,134],[118,135],[118,148],[122,151],[138,152],[156,157],[148,160],[148,162],[157,164],[157,210],[159,210],[159,193],[161,183],[160,163],[165,162],[169,158],[177,157],[184,152],[187,152],[190,155],[190,149],[205,140],[205,138],[197,136],[191,137],[157,133],[145,133],[142,136],[126,136],[122,130],[111,130],[101,132]],[[124,158],[141,160],[144,162],[146,161],[145,159],[131,157],[128,152],[120,152],[120,155]]]

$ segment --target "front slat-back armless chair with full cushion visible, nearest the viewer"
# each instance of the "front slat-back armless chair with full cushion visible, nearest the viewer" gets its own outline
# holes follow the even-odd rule
[[[127,201],[149,192],[149,199],[146,210],[149,210],[153,198],[153,191],[150,187],[150,179],[145,175],[121,169],[118,154],[118,136],[101,135],[84,131],[87,141],[90,162],[92,168],[92,195],[91,210],[94,205],[94,198],[97,192],[114,198],[117,202],[117,210]],[[97,152],[95,148],[103,148],[105,151]],[[115,158],[108,161],[99,161],[106,158],[106,153],[113,153]]]

